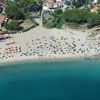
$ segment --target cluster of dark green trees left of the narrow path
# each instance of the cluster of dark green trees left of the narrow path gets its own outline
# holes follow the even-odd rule
[[[20,30],[21,23],[18,24],[18,20],[23,21],[27,19],[30,19],[32,24],[36,24],[32,17],[32,13],[40,12],[42,10],[42,5],[38,5],[37,1],[38,3],[41,3],[41,0],[15,0],[14,2],[7,2],[5,0],[5,3],[7,4],[5,13],[12,21],[5,22],[4,27],[11,31]]]

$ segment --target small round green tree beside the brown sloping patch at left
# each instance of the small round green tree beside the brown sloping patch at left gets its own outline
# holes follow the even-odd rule
[[[12,20],[11,22],[9,22],[8,29],[11,30],[11,31],[13,31],[13,30],[19,30],[20,26],[19,26],[18,21]]]

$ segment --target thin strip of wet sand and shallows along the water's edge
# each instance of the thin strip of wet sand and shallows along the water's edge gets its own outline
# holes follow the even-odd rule
[[[31,63],[31,62],[55,62],[55,61],[75,61],[75,60],[83,60],[84,57],[80,55],[74,55],[74,56],[57,56],[57,57],[43,57],[43,58],[37,58],[37,57],[20,57],[18,59],[7,59],[0,62],[0,67],[13,65],[13,64],[23,64],[23,63]]]

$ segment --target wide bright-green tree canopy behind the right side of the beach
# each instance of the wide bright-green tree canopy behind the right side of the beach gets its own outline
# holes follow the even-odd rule
[[[87,14],[86,9],[68,9],[63,13],[63,18],[65,21],[81,24],[87,21]]]

